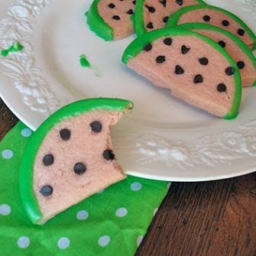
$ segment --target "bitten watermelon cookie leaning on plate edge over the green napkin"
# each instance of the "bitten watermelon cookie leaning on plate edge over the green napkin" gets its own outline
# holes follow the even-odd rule
[[[20,170],[21,199],[31,222],[42,225],[125,178],[110,128],[132,108],[123,99],[85,99],[60,109],[37,129]]]

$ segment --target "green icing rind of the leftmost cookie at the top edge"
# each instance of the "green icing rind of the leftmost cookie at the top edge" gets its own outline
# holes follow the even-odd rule
[[[86,12],[87,24],[89,24],[91,31],[94,31],[99,37],[102,37],[105,41],[112,41],[114,40],[113,28],[106,24],[99,15],[98,3],[100,1],[94,0],[89,11]]]

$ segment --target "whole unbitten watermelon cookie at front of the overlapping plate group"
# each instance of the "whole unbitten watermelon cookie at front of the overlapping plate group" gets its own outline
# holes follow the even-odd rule
[[[152,31],[133,41],[122,61],[191,105],[227,119],[238,114],[238,66],[209,37],[179,28]]]

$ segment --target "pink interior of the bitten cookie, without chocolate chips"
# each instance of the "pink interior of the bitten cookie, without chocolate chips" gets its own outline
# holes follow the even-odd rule
[[[41,212],[42,223],[64,209],[79,203],[88,196],[125,178],[122,167],[116,160],[105,160],[105,149],[112,149],[110,128],[121,117],[120,112],[93,111],[64,119],[44,138],[34,162],[34,193]],[[90,123],[98,121],[102,131],[95,133]],[[68,141],[60,138],[60,130],[69,129]],[[45,167],[43,158],[52,154],[54,162]],[[78,175],[73,167],[77,163],[86,165],[86,172]],[[51,186],[53,193],[43,196],[42,186]]]

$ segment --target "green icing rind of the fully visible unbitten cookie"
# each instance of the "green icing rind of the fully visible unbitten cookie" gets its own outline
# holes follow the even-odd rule
[[[160,37],[175,37],[175,36],[194,36],[199,37],[201,40],[205,41],[207,44],[210,44],[212,47],[215,48],[215,50],[218,50],[219,53],[221,53],[226,60],[228,60],[228,63],[230,63],[230,66],[233,66],[235,69],[234,74],[234,80],[235,80],[235,96],[232,102],[232,107],[225,115],[225,119],[232,119],[235,118],[238,115],[239,106],[241,104],[241,76],[240,71],[238,70],[238,66],[232,60],[232,57],[215,41],[210,39],[209,37],[205,37],[202,34],[198,34],[192,31],[186,31],[179,28],[163,28],[156,31],[152,31],[150,33],[144,34],[141,37],[136,38],[131,44],[128,45],[128,47],[125,49],[125,52],[122,56],[122,62],[125,64],[128,64],[128,61],[132,58],[136,57],[138,53],[141,52],[143,47],[147,44],[152,43],[153,41],[157,40]]]

